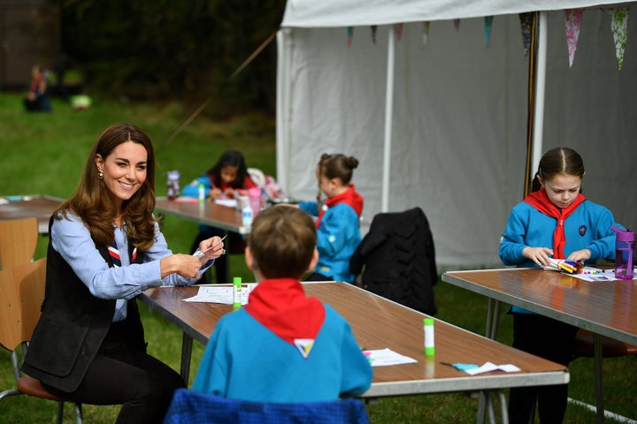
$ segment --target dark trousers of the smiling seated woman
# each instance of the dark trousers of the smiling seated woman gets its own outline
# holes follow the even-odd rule
[[[42,384],[44,385],[44,384]],[[117,424],[161,423],[181,376],[160,360],[120,340],[104,342],[77,390],[50,393],[87,405],[122,405]]]

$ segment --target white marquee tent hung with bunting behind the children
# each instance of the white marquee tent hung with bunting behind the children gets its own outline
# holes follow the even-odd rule
[[[546,89],[539,81],[533,137],[541,148],[533,170],[542,151],[575,148],[587,168],[585,195],[634,228],[637,28],[631,17],[618,70],[608,11],[616,5],[289,0],[277,37],[280,183],[296,198],[313,199],[319,156],[354,155],[367,223],[382,211],[419,206],[440,269],[502,266],[500,234],[525,186],[529,58],[518,13],[544,11]],[[575,7],[586,9],[570,68],[564,9]],[[488,43],[485,16],[494,16]]]

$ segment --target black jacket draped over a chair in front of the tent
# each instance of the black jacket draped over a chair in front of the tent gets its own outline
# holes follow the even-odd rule
[[[365,290],[425,314],[437,312],[434,238],[421,208],[374,216],[349,261]]]

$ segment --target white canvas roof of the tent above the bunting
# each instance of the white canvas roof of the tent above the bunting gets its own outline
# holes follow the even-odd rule
[[[357,27],[556,11],[617,0],[288,0],[281,27]]]

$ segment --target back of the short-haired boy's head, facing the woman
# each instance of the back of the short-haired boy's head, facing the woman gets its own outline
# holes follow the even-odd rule
[[[314,221],[301,209],[279,206],[258,213],[249,248],[265,278],[301,278],[308,270],[317,235]]]

